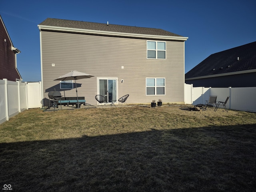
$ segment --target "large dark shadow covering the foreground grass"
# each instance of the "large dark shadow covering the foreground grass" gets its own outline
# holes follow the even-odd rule
[[[0,144],[14,191],[253,191],[256,125]]]

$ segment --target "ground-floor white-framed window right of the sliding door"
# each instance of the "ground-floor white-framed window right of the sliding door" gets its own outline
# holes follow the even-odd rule
[[[146,78],[146,95],[165,95],[165,78]]]

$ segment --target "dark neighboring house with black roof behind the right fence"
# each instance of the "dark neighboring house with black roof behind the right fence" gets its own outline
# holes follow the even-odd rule
[[[256,87],[256,42],[210,55],[185,74],[194,87]]]

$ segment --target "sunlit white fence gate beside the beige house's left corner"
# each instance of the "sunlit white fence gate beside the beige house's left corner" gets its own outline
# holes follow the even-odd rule
[[[30,82],[27,83],[28,93],[28,108],[40,108],[42,107],[42,83]]]

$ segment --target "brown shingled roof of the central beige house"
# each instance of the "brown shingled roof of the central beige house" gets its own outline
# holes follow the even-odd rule
[[[84,22],[84,21],[53,19],[53,18],[47,18],[39,25],[88,29],[88,30],[100,30],[100,31],[110,31],[110,32],[182,37],[180,35],[177,35],[162,29],[156,29],[156,28],[145,28],[145,27],[136,27],[136,26],[114,25],[114,24],[107,25],[106,23],[103,24],[103,23],[93,23],[93,22]]]

